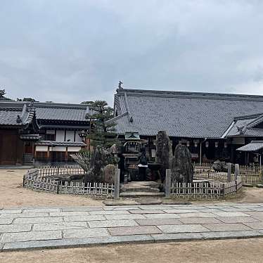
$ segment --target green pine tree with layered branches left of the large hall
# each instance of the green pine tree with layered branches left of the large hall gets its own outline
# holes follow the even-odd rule
[[[91,145],[105,148],[113,146],[117,143],[116,124],[107,122],[113,117],[113,108],[110,108],[106,101],[94,101],[90,108],[93,113],[87,118],[90,118],[93,124],[93,130],[91,129],[91,134],[88,136],[91,139]]]

